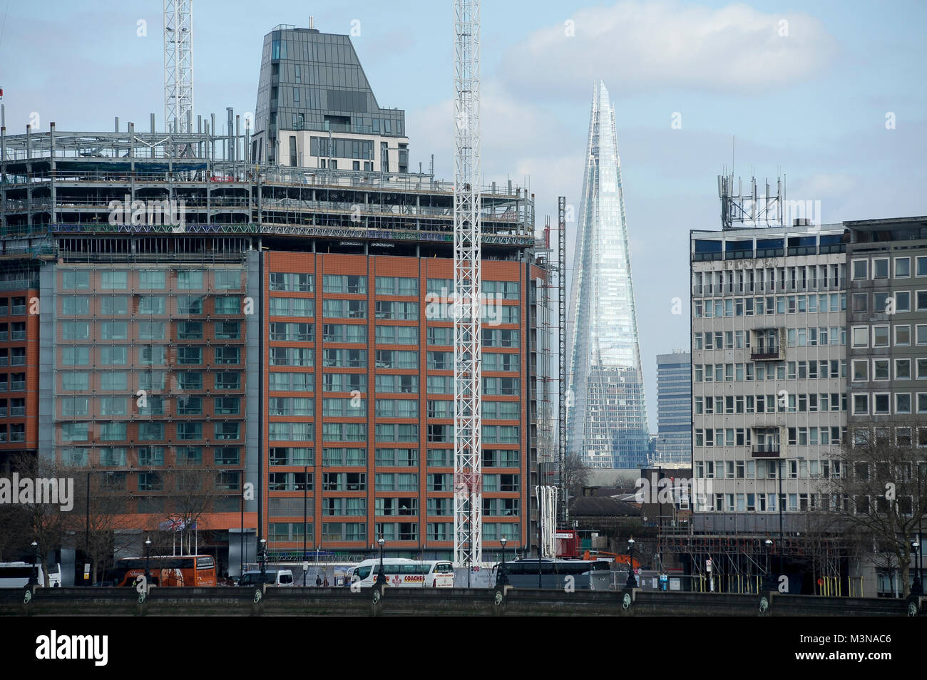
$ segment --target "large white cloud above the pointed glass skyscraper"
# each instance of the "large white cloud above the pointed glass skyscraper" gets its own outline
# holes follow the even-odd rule
[[[818,19],[740,4],[715,9],[619,2],[567,19],[574,22],[574,36],[558,24],[509,50],[500,73],[513,89],[559,97],[586,93],[593,80],[603,79],[623,91],[763,92],[813,75],[836,49]]]

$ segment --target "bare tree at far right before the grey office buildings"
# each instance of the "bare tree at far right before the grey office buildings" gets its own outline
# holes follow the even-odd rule
[[[867,432],[856,430],[834,460],[840,472],[825,485],[827,508],[844,535],[877,546],[877,567],[897,567],[907,598],[912,542],[927,509],[927,450],[913,446],[912,427],[895,427],[896,437],[888,428]]]

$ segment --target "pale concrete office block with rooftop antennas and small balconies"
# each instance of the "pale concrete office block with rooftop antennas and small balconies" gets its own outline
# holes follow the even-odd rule
[[[795,532],[820,508],[846,428],[843,234],[692,232],[696,531]]]

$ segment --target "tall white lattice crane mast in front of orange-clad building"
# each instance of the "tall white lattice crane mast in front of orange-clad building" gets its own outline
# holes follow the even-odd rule
[[[468,574],[483,556],[479,144],[479,0],[454,0],[454,566]]]

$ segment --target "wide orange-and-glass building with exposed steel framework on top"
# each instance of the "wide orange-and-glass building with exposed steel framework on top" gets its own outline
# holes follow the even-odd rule
[[[123,494],[135,554],[192,489],[209,498],[200,550],[231,574],[261,537],[272,560],[358,558],[380,536],[394,556],[450,558],[452,184],[259,165],[231,110],[226,134],[186,121],[2,131],[0,450]],[[479,206],[492,559],[503,537],[510,555],[537,543],[553,334],[533,197],[490,184]],[[81,546],[64,548],[67,565]]]

